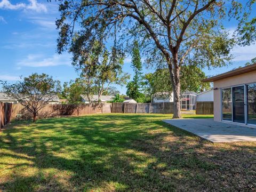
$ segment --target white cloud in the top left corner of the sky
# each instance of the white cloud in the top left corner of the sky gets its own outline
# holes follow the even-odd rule
[[[29,4],[17,3],[12,4],[9,0],[2,0],[0,2],[0,9],[7,10],[32,10],[36,12],[47,12],[47,8],[44,4],[38,3],[36,0],[28,0]]]

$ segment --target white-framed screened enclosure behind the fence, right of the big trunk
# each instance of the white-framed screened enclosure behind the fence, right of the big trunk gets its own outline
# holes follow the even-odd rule
[[[180,96],[181,110],[195,110],[196,105],[196,93],[186,91]]]

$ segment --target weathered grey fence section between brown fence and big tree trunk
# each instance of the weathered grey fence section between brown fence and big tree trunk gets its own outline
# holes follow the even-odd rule
[[[113,103],[112,113],[172,114],[173,113],[173,102]]]

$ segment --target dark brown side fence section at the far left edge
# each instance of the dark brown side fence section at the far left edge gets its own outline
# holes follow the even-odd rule
[[[11,121],[12,103],[0,102],[0,129]]]

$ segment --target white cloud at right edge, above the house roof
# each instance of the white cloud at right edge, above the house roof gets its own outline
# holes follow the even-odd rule
[[[256,44],[250,46],[236,46],[231,54],[234,55],[233,61],[250,61],[256,57]]]

